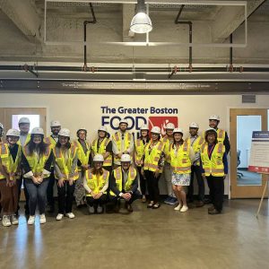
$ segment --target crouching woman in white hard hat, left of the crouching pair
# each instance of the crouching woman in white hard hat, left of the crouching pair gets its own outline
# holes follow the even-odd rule
[[[102,168],[103,163],[103,155],[96,154],[93,157],[93,168],[86,170],[83,178],[89,213],[103,213],[107,202],[109,171]]]

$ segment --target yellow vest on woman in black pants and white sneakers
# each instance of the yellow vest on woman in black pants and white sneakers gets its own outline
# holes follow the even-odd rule
[[[77,147],[74,146],[74,144],[72,144],[71,148],[67,150],[67,156],[68,156],[67,160],[65,160],[65,156],[63,155],[63,152],[61,151],[60,148],[55,147],[53,149],[53,153],[55,156],[56,164],[59,167],[59,169],[61,170],[61,173],[63,174],[65,180],[68,180],[71,177],[74,180],[79,178],[77,165],[75,166],[74,174],[73,175],[71,174],[72,164],[73,164],[74,158],[77,154]],[[56,175],[56,171],[55,171],[55,177],[58,179],[58,177]]]

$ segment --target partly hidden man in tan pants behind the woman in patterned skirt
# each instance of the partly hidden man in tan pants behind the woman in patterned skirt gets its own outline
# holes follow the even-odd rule
[[[178,199],[176,195],[173,192],[173,187],[172,187],[172,169],[170,165],[170,160],[168,158],[169,154],[169,145],[174,142],[174,137],[173,137],[173,131],[175,129],[175,125],[172,123],[168,123],[165,126],[165,136],[161,138],[161,141],[165,144],[164,145],[164,153],[165,153],[165,162],[164,162],[164,168],[163,168],[163,178],[165,180],[166,188],[167,188],[167,198],[164,200],[165,204],[170,204],[174,205],[178,203]]]

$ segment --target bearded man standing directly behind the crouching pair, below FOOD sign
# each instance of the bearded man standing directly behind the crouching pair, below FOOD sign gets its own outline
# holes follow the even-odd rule
[[[112,135],[112,150],[114,153],[114,164],[120,166],[120,158],[123,154],[133,156],[134,152],[134,137],[126,131],[128,121],[121,119],[119,121],[119,131]]]

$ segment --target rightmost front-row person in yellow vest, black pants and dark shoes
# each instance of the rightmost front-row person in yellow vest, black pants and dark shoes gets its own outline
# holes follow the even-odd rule
[[[200,149],[202,177],[207,180],[213,206],[209,214],[222,211],[224,195],[224,178],[228,173],[227,153],[225,145],[218,142],[218,134],[214,128],[205,131],[205,143]]]

